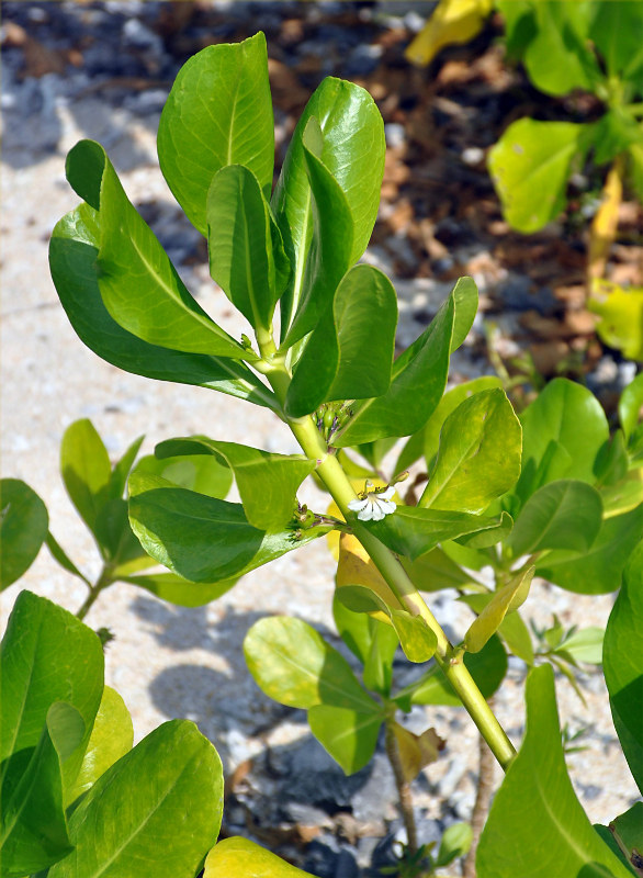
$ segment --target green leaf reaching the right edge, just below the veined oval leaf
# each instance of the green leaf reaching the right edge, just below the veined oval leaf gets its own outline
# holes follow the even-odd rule
[[[585,552],[550,552],[537,563],[537,575],[582,595],[602,595],[621,585],[631,552],[643,534],[643,505],[605,520]]]

